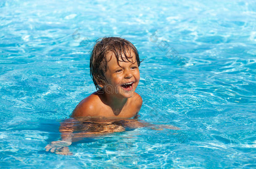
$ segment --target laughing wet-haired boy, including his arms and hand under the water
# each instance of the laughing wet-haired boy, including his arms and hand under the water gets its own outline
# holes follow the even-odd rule
[[[141,96],[135,92],[140,63],[137,49],[128,40],[117,37],[98,40],[90,58],[91,78],[98,90],[76,106],[71,115],[74,119],[60,126],[62,141],[52,141],[45,147],[46,151],[71,154],[67,146],[79,137],[124,131],[122,126],[144,126],[130,119],[138,114],[142,105]],[[74,126],[79,122],[86,124],[87,131],[75,135]],[[99,129],[98,124],[101,124]]]

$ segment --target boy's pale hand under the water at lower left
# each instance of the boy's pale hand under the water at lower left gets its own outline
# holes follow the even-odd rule
[[[55,154],[72,155],[67,146],[71,145],[71,141],[52,141],[51,144],[45,146],[45,151],[51,151]]]

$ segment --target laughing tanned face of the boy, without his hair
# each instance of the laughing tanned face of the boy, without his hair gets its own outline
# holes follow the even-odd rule
[[[132,56],[129,61],[133,63],[127,61],[124,54],[122,54],[123,59],[127,62],[119,58],[121,60],[119,61],[120,66],[113,53],[107,55],[107,71],[105,72],[107,81],[104,81],[102,85],[105,93],[114,94],[118,98],[130,98],[134,95],[140,79],[140,73],[135,53],[131,52],[130,54],[128,52],[127,55],[128,57]]]

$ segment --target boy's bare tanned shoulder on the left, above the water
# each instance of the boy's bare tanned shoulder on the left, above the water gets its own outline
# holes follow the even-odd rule
[[[84,98],[74,109],[71,117],[97,116],[99,112],[99,104],[101,100],[98,95],[92,93]]]

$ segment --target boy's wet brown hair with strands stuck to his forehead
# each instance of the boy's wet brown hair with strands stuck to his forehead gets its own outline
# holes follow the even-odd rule
[[[132,52],[135,53],[136,61],[132,60]],[[104,73],[107,71],[108,61],[106,56],[108,53],[112,53],[112,55],[117,58],[118,65],[120,61],[131,63],[137,62],[138,66],[140,66],[141,63],[138,56],[138,50],[128,40],[118,37],[99,38],[96,41],[90,56],[90,74],[97,90],[100,89],[100,87],[95,78],[107,81]],[[124,57],[122,57],[122,54]]]

